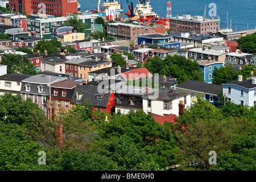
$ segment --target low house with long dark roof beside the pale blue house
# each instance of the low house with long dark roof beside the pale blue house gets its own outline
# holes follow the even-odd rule
[[[176,90],[191,92],[191,102],[196,102],[196,96],[200,95],[201,98],[216,106],[218,92],[222,91],[222,87],[222,85],[189,80],[177,85]]]

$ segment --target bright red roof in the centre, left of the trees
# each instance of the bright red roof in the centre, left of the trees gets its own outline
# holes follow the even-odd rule
[[[121,73],[121,75],[126,80],[133,80],[133,79],[137,79],[137,78],[147,77],[148,73],[150,73],[150,72],[147,70],[147,68],[136,68],[136,69],[132,69],[129,72]],[[151,74],[151,76],[152,76],[152,74]]]

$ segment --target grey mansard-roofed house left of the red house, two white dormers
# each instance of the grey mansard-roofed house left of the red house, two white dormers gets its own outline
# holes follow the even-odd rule
[[[23,100],[31,98],[33,102],[37,103],[48,114],[47,97],[49,96],[49,85],[63,80],[67,80],[67,78],[49,75],[30,76],[22,80],[20,93]]]

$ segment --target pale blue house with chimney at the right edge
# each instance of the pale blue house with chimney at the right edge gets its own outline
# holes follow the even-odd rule
[[[242,80],[240,75],[237,81],[226,82],[222,85],[223,94],[228,97],[229,102],[242,106],[254,106],[256,104],[256,77]]]

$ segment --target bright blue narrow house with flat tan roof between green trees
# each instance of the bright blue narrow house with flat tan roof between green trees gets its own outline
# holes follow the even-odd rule
[[[197,61],[197,63],[199,64],[202,71],[203,79],[207,84],[212,83],[212,73],[214,71],[214,68],[223,67],[223,62],[220,61],[199,60]]]

